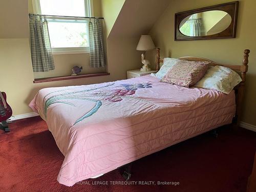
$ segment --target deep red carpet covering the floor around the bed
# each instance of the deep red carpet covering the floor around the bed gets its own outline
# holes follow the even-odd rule
[[[256,151],[256,133],[224,126],[216,139],[209,134],[189,139],[133,164],[130,181],[114,170],[89,184],[66,187],[56,181],[63,156],[39,117],[10,124],[0,132],[0,191],[246,191]],[[108,181],[108,185],[93,185]],[[177,181],[179,185],[139,185],[138,181]],[[94,183],[95,184],[95,183]],[[142,184],[142,183],[141,183]]]

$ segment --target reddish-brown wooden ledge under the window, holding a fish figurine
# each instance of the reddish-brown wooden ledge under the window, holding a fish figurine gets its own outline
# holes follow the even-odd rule
[[[87,77],[97,77],[97,76],[104,76],[104,75],[110,75],[110,73],[91,73],[91,74],[83,74],[83,75],[77,75],[77,76],[59,76],[59,77],[46,77],[46,78],[39,78],[34,79],[34,83],[39,82],[51,82],[51,81],[60,81],[60,80],[68,80],[68,79],[79,79],[79,78],[87,78]]]

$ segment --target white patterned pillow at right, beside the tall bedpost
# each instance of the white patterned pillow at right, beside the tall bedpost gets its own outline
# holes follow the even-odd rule
[[[240,75],[229,68],[210,66],[204,77],[194,86],[229,94],[241,81]]]

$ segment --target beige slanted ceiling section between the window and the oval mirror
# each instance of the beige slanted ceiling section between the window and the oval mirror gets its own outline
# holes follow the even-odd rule
[[[169,0],[126,0],[108,38],[147,34],[169,3]]]

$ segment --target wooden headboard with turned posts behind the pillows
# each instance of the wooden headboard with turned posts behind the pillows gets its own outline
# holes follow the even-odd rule
[[[237,124],[240,123],[241,120],[241,114],[242,114],[242,107],[243,107],[243,95],[245,91],[245,80],[246,80],[246,72],[248,71],[248,57],[249,57],[250,50],[246,49],[244,50],[244,58],[241,66],[238,65],[227,65],[222,64],[218,62],[214,62],[212,60],[201,58],[201,57],[180,57],[178,59],[181,60],[191,60],[191,61],[210,61],[211,66],[224,66],[227,68],[230,68],[234,71],[237,71],[239,75],[242,78],[242,82],[238,84],[234,88],[236,93],[236,104],[237,104],[237,110],[236,110],[236,121]],[[157,55],[156,55],[156,70],[159,71],[160,69],[160,63],[163,62],[163,59],[160,58],[160,49],[157,48]]]

